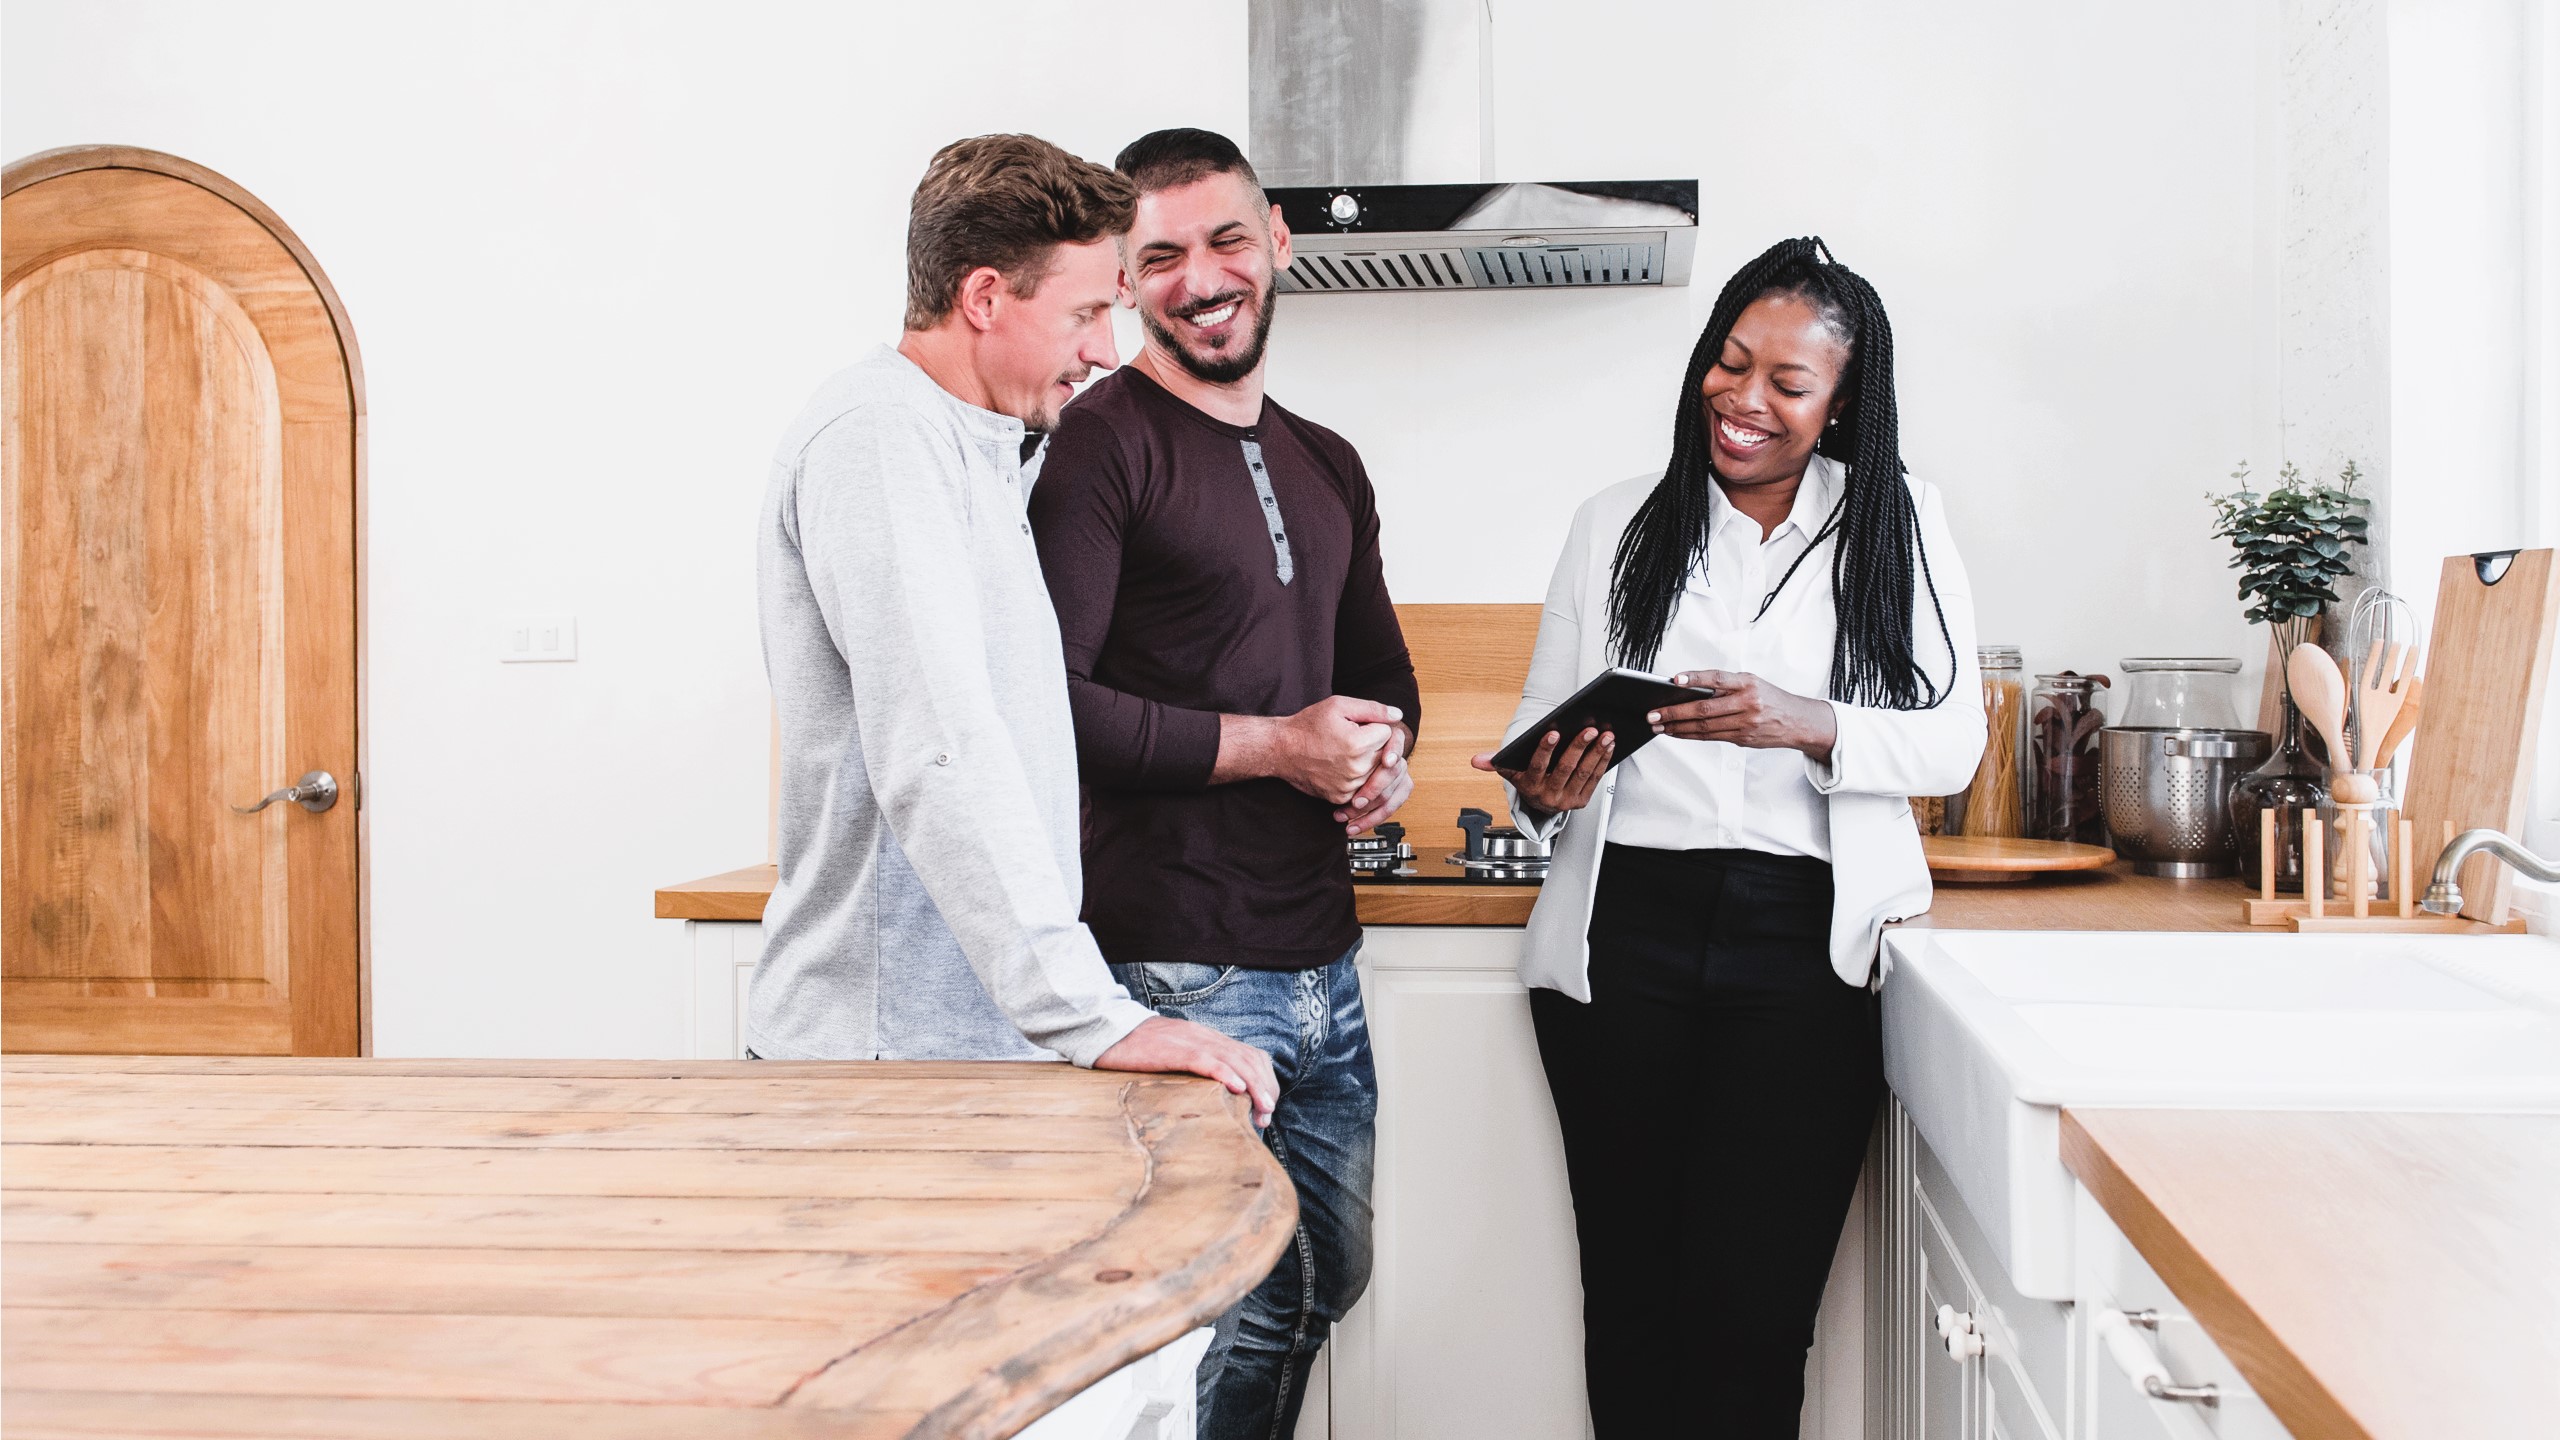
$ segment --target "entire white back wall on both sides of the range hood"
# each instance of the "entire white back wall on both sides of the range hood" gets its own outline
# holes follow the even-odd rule
[[[1244,133],[1244,8],[13,0],[0,151],[141,143],[274,205],[371,389],[381,1053],[673,1053],[655,884],[763,856],[750,530],[891,338],[934,143]],[[1403,600],[1536,600],[1659,466],[1715,284],[1823,233],[1905,448],[2038,669],[2245,653],[2202,495],[2278,456],[2271,5],[1498,5],[1505,177],[1700,177],[1697,284],[1290,302],[1275,395],[1370,459]],[[571,610],[573,666],[489,620]]]

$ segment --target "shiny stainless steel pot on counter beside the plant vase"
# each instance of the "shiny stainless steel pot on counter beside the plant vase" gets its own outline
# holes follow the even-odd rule
[[[2266,730],[2102,730],[2099,787],[2115,851],[2140,874],[2240,874],[2230,792],[2268,748]]]

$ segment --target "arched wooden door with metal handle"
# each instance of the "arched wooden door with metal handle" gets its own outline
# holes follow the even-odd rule
[[[0,1045],[353,1056],[346,310],[182,159],[46,151],[0,195]],[[333,805],[236,810],[307,771]]]

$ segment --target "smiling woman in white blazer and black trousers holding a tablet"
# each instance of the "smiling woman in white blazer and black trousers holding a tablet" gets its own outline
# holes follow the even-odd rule
[[[1592,1425],[1792,1440],[1884,1086],[1876,935],[1930,902],[1907,797],[1964,789],[1984,740],[1971,587],[1902,469],[1892,328],[1818,238],[1718,295],[1664,474],[1574,515],[1510,735],[1610,666],[1718,694],[1656,712],[1618,769],[1582,730],[1503,774],[1554,843],[1521,979]]]

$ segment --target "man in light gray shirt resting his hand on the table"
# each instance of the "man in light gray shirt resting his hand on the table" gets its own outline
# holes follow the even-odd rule
[[[755,1056],[1190,1071],[1270,1120],[1270,1056],[1134,1002],[1078,920],[1075,733],[1027,441],[1119,364],[1134,200],[1032,136],[945,146],[909,213],[906,333],[819,387],[773,459],[755,569],[781,879]]]

